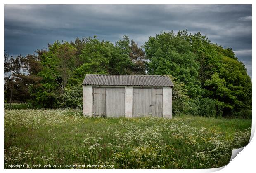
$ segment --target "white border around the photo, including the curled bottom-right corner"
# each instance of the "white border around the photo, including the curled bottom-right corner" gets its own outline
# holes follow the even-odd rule
[[[208,0],[208,1],[203,1],[203,0],[180,0],[180,1],[172,1],[169,2],[167,0],[94,0],[94,1],[82,1],[82,0],[72,0],[72,1],[68,1],[68,0],[62,0],[62,1],[52,1],[52,0],[24,0],[24,1],[19,1],[19,0],[3,0],[2,1],[3,4],[0,8],[0,12],[1,12],[1,53],[2,55],[4,54],[4,4],[252,4],[252,16],[254,16],[255,14],[255,10],[256,8],[254,7],[255,2],[253,0]],[[107,2],[107,3],[106,3]],[[252,30],[254,30],[254,26],[255,26],[255,19],[254,17],[252,18]],[[254,33],[252,33],[252,48],[255,46],[255,35]],[[252,57],[254,57],[255,53],[254,50],[252,50]],[[3,61],[3,60],[2,60]],[[252,58],[252,65],[254,65],[254,59]],[[1,63],[1,68],[3,71],[3,63]],[[254,134],[255,131],[255,115],[254,115],[254,108],[255,108],[255,87],[254,87],[254,76],[255,76],[255,72],[252,68],[252,83],[253,83],[253,93],[252,93],[252,103],[253,103],[253,119],[252,119],[252,134]],[[3,75],[1,75],[1,81],[3,80]],[[4,90],[4,83],[1,82],[0,83],[2,91]],[[1,128],[1,148],[2,150],[0,150],[1,152],[1,168],[3,169],[4,167],[4,122],[3,122],[3,117],[4,117],[4,94],[3,92],[1,92],[1,115],[2,115],[2,119],[1,119],[1,124],[2,124],[2,128]],[[251,142],[244,147],[244,149],[238,154],[237,157],[235,157],[227,166],[224,166],[223,169],[220,170],[220,172],[234,172],[234,173],[247,173],[247,172],[252,172],[252,170],[255,170],[255,155],[256,155],[256,140],[254,138],[252,138]],[[212,172],[212,171],[218,171],[220,168],[216,168],[216,169],[183,169],[183,170],[178,170],[178,169],[164,169],[164,170],[151,170],[151,169],[136,169],[133,171],[140,171],[140,172]],[[5,172],[12,172],[14,170],[9,170],[9,169],[5,169]],[[15,172],[31,172],[31,171],[38,171],[38,172],[51,172],[52,170],[15,170]],[[70,172],[71,170],[55,170],[56,172]],[[90,169],[90,170],[72,170],[72,171],[90,171],[90,173],[95,173],[95,172],[120,172],[121,170],[100,170],[100,169]],[[131,170],[126,169],[126,170],[122,170],[123,172],[130,172]]]

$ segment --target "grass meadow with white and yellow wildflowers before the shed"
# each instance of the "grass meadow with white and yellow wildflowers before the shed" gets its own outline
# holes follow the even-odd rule
[[[217,168],[247,145],[251,120],[86,118],[81,110],[5,110],[7,165]],[[31,167],[31,166],[28,166]],[[56,167],[56,166],[55,166]]]

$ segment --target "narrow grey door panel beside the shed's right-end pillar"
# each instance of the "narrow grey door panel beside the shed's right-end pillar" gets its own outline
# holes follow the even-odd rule
[[[151,111],[153,116],[163,116],[163,89],[151,89]]]

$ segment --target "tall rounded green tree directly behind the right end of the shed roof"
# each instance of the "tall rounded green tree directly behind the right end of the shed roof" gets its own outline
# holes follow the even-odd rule
[[[149,75],[172,75],[178,82],[185,84],[188,96],[197,98],[201,95],[199,64],[189,41],[175,35],[173,31],[163,32],[156,37],[149,37],[144,47],[149,61]]]

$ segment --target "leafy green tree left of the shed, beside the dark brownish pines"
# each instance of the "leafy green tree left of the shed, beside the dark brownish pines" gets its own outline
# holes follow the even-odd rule
[[[56,108],[60,104],[60,94],[73,75],[76,48],[68,42],[54,42],[48,45],[49,51],[39,51],[38,58],[42,70],[37,76],[42,77],[41,85],[34,91],[37,106]]]

